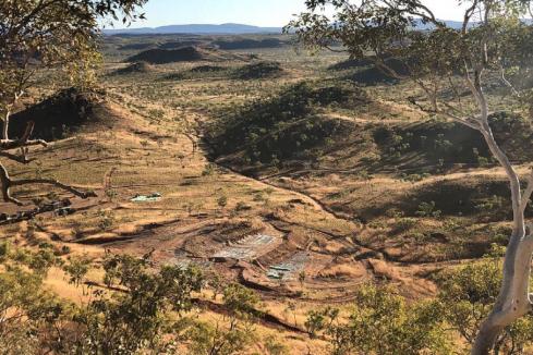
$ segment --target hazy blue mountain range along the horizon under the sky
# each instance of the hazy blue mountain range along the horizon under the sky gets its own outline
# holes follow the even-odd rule
[[[161,27],[143,27],[143,28],[109,28],[104,29],[106,35],[171,35],[171,34],[190,34],[190,35],[244,35],[244,34],[281,34],[281,27],[258,27],[242,24],[191,24],[191,25],[170,25]]]

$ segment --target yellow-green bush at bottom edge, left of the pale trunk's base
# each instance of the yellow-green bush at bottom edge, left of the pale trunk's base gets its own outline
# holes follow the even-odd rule
[[[366,284],[348,322],[326,329],[332,354],[449,353],[441,310],[435,302],[408,305],[390,286]]]

